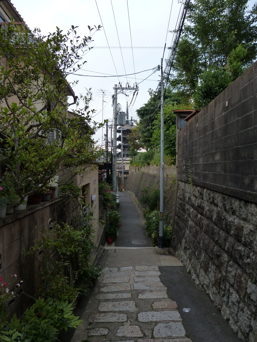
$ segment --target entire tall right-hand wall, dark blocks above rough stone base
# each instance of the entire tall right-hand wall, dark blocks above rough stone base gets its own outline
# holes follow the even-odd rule
[[[177,153],[171,245],[238,337],[254,342],[257,63],[177,132]]]

